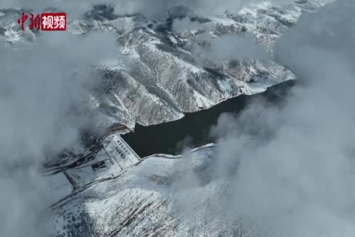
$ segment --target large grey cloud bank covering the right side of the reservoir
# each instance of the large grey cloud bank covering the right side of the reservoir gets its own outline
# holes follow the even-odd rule
[[[209,184],[210,223],[242,216],[274,235],[355,236],[354,11],[344,0],[302,16],[274,46],[298,78],[285,103],[258,99],[211,129],[217,160],[180,184]],[[178,201],[186,210],[201,197],[193,190]]]

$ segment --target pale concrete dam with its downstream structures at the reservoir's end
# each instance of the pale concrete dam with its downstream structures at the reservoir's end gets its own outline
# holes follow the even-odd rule
[[[53,203],[70,197],[91,184],[121,175],[141,158],[118,134],[102,141],[101,149],[45,175],[52,187]]]

